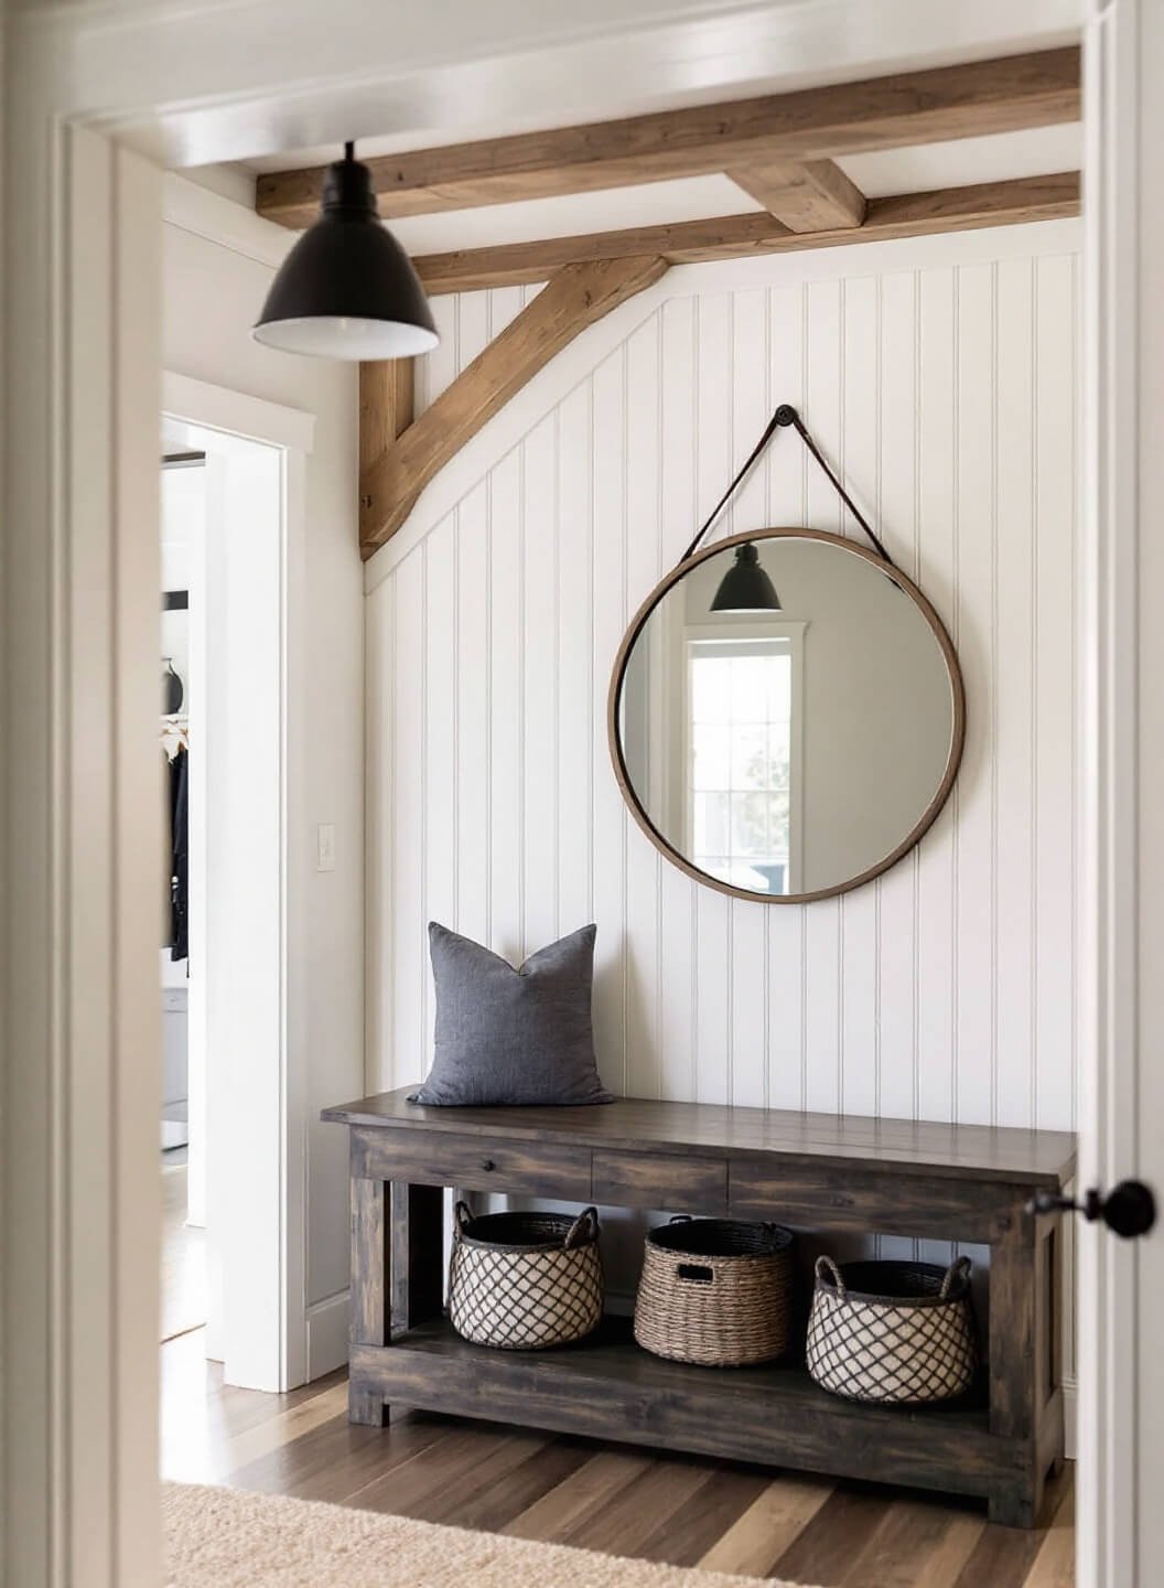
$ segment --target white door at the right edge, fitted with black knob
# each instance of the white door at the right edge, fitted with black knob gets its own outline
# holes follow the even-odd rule
[[[1086,48],[1080,1174],[1164,1193],[1164,3]],[[1164,1580],[1164,1229],[1080,1231],[1080,1588]]]

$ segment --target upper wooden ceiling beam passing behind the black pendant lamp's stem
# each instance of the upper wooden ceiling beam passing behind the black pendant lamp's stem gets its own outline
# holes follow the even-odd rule
[[[380,213],[429,214],[549,198],[769,160],[827,160],[862,149],[943,143],[1080,118],[1080,51],[1051,49],[929,71],[689,105],[622,121],[410,149],[367,160]],[[326,167],[259,178],[259,214],[314,219]]]

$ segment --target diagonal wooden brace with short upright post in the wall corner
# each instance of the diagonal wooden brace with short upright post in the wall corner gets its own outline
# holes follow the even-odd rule
[[[384,365],[360,370],[360,554],[378,551],[403,524],[434,475],[476,435],[578,332],[642,292],[667,270],[659,256],[565,265],[435,403],[389,440],[397,410]],[[389,419],[389,410],[392,418]],[[378,445],[383,441],[384,445]]]

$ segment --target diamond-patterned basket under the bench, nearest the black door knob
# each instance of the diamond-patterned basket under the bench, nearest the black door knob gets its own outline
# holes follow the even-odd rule
[[[816,1259],[808,1372],[848,1401],[919,1405],[970,1388],[978,1342],[970,1259],[931,1262]]]

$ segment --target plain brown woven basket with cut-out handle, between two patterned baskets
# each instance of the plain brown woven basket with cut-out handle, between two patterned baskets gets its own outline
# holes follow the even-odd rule
[[[676,1218],[646,1237],[635,1339],[703,1367],[767,1363],[788,1350],[792,1232],[729,1218]]]

